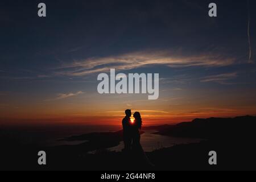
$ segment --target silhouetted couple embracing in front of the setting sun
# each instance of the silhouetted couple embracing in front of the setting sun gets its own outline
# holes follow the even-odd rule
[[[123,118],[123,142],[125,143],[125,151],[137,150],[141,148],[141,126],[142,119],[139,112],[133,114],[134,121],[131,120],[131,110],[125,111],[125,118]]]

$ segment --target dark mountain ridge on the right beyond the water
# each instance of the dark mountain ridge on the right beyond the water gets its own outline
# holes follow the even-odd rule
[[[172,137],[226,139],[230,137],[254,137],[255,130],[256,117],[246,115],[235,118],[197,118],[192,122],[160,127],[160,130],[155,134]]]

